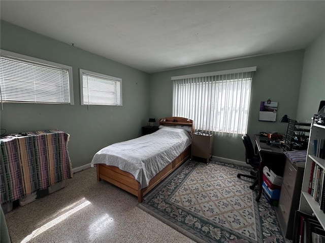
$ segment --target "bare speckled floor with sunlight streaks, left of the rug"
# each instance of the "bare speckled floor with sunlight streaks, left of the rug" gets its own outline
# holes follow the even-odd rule
[[[89,168],[75,173],[66,187],[15,208],[5,218],[12,243],[194,242],[138,204],[136,196],[98,182],[96,169]]]

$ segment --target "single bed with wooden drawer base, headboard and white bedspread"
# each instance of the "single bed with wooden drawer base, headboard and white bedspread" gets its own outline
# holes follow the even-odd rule
[[[190,157],[193,132],[192,120],[166,117],[152,134],[101,149],[91,166],[96,166],[98,181],[110,182],[142,203],[145,194]]]

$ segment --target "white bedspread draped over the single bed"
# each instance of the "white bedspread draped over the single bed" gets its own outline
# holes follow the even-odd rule
[[[93,156],[91,167],[94,164],[116,166],[131,173],[142,189],[190,144],[191,138],[186,131],[165,127],[152,134],[102,148]]]

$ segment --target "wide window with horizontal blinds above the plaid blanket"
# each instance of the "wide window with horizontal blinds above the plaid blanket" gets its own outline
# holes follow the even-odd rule
[[[1,102],[73,104],[72,67],[1,50]]]

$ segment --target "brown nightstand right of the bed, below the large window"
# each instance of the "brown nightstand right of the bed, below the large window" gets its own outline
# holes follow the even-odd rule
[[[213,135],[205,133],[192,134],[191,159],[193,156],[205,158],[207,164],[212,157]]]

